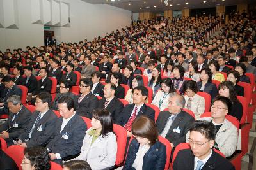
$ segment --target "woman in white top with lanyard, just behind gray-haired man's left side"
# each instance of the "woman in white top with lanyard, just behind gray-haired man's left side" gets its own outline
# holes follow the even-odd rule
[[[175,92],[176,90],[173,87],[172,80],[170,78],[164,78],[161,82],[161,90],[157,91],[151,104],[156,105],[160,111],[164,111],[168,107],[170,94]]]

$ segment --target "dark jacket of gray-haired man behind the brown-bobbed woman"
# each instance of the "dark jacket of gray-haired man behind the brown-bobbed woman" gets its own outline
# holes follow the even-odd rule
[[[163,132],[165,125],[168,122],[168,118],[171,117],[169,111],[161,111],[159,117],[157,118],[156,125],[159,134]],[[173,120],[173,123],[166,134],[166,139],[177,146],[179,143],[186,142],[186,134],[189,131],[190,125],[195,121],[195,119],[186,113],[186,111],[180,111],[179,115]],[[180,132],[174,132],[173,129],[180,129]]]

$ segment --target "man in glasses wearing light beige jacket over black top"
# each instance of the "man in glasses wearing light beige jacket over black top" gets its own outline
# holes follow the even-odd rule
[[[238,133],[234,124],[229,122],[225,117],[231,110],[231,101],[227,97],[215,97],[211,106],[211,117],[199,118],[198,120],[207,120],[213,124],[216,131],[214,148],[220,150],[225,157],[230,157],[237,147]],[[189,132],[186,135],[188,141]]]

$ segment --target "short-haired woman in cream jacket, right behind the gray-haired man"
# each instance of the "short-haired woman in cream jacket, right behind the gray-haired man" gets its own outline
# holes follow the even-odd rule
[[[186,94],[184,95],[186,101],[184,108],[193,111],[197,120],[205,111],[205,101],[204,97],[196,94],[198,92],[196,81],[186,81],[184,83],[184,92]]]

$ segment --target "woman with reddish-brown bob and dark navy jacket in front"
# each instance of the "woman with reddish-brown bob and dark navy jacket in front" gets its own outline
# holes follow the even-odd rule
[[[166,146],[157,140],[156,125],[150,118],[141,116],[132,124],[132,139],[123,170],[164,170]]]

